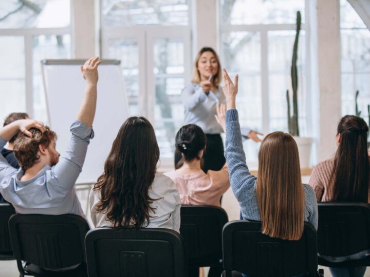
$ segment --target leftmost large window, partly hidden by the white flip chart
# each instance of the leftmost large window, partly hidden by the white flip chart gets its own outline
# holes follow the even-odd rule
[[[7,0],[0,4],[0,122],[27,111],[47,122],[40,61],[69,58],[69,0]]]

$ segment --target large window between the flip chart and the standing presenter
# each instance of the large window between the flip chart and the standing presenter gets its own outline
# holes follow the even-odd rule
[[[173,165],[183,124],[182,88],[190,82],[188,0],[101,1],[103,58],[121,60],[131,115],[154,125],[161,166]]]

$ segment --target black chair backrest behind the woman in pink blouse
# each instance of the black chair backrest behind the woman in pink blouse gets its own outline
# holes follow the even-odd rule
[[[223,208],[181,206],[180,234],[187,249],[189,266],[202,267],[220,263],[222,230],[227,222],[228,216]]]

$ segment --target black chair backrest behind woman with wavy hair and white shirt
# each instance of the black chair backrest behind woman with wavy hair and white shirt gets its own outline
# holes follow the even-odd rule
[[[90,230],[85,239],[89,277],[185,277],[181,235],[170,229]]]

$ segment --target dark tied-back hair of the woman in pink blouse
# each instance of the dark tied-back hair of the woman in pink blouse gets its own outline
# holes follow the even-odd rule
[[[182,126],[176,134],[176,151],[182,153],[176,169],[180,168],[184,162],[200,159],[198,153],[205,149],[206,143],[207,137],[199,126],[194,124]]]

